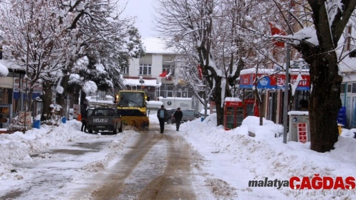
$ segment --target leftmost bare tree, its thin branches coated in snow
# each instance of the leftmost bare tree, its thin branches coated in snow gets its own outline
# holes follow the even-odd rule
[[[2,7],[0,26],[5,32],[5,56],[26,71],[29,111],[33,86],[37,82],[44,88],[51,85],[59,77],[58,71],[67,64],[68,56],[74,53],[73,39],[65,31],[67,24],[58,24],[58,14],[53,13],[56,6],[56,1],[11,0]],[[62,18],[64,22],[72,20],[72,16]],[[51,90],[44,92],[49,93],[51,102]]]

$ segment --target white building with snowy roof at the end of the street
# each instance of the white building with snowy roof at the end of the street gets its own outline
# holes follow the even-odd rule
[[[142,58],[133,58],[124,69],[125,85],[130,90],[144,90],[152,100],[158,97],[192,98],[193,92],[179,83],[180,62],[176,51],[165,48],[160,38],[144,38],[146,54]],[[166,76],[163,76],[163,73]],[[140,82],[140,80],[142,80]]]

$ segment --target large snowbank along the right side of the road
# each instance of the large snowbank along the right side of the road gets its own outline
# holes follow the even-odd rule
[[[249,180],[290,180],[293,176],[320,177],[354,176],[356,171],[356,140],[352,138],[352,131],[344,130],[345,137],[340,136],[335,149],[318,153],[310,150],[310,142],[283,143],[279,137],[282,126],[263,119],[263,126],[259,126],[258,117],[247,117],[240,127],[225,131],[223,126],[215,126],[216,114],[207,117],[204,122],[194,120],[181,125],[183,136],[192,144],[193,149],[199,151],[203,159],[193,159],[195,173],[202,175],[213,192],[219,191],[218,179],[226,181],[225,194],[231,193],[232,199],[247,199],[251,197],[269,196],[275,199],[307,199],[307,189],[304,193],[297,192],[290,187],[249,187]],[[256,137],[248,136],[248,131],[254,131]],[[353,133],[353,132],[352,132]],[[263,136],[264,135],[264,136]],[[277,137],[276,137],[277,136]],[[217,156],[218,155],[218,156]],[[226,166],[223,164],[226,162]],[[213,169],[213,167],[215,167]],[[199,170],[197,170],[199,169]],[[210,171],[211,173],[202,173]],[[227,173],[230,171],[230,173]],[[217,178],[217,179],[216,179]],[[214,184],[212,180],[215,180]],[[234,195],[234,189],[238,197]],[[303,190],[302,190],[303,191]],[[315,190],[310,190],[315,191]],[[339,196],[346,199],[347,191],[335,189],[334,194],[318,192],[313,199],[330,199]],[[337,193],[338,192],[338,193]],[[343,193],[342,193],[343,192]],[[356,196],[355,196],[356,197]],[[218,197],[223,198],[223,197]]]

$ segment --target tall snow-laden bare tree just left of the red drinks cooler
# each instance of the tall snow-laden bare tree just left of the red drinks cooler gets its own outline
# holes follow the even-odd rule
[[[241,22],[249,11],[244,1],[158,0],[156,10],[157,31],[180,55],[185,55],[186,82],[194,91],[199,91],[197,85],[209,86],[208,96],[216,104],[217,125],[223,124],[225,97],[232,96],[230,87],[253,54],[246,44],[250,36],[234,23]],[[198,76],[198,65],[202,78]]]

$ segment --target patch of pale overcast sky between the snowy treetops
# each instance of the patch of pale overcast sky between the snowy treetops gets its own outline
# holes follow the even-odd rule
[[[137,16],[135,26],[143,38],[154,37],[153,28],[153,0],[128,0],[125,16]]]

